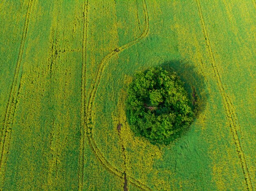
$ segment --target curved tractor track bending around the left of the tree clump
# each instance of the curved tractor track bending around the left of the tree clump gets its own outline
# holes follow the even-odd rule
[[[146,35],[148,34],[148,30],[149,30],[149,24],[148,24],[148,11],[147,11],[147,7],[146,7],[146,1],[143,0],[143,10],[144,10],[144,15],[145,15],[145,23],[146,23],[146,27],[144,29],[144,32],[141,33],[141,35],[139,37],[137,37],[135,40],[120,46],[118,48],[115,48],[114,50],[112,50],[108,55],[106,55],[100,62],[99,64],[99,69],[97,71],[96,74],[96,78],[94,79],[94,83],[92,86],[92,91],[89,94],[89,102],[87,106],[83,106],[86,107],[84,108],[85,111],[81,112],[82,115],[82,119],[84,120],[84,122],[81,122],[81,125],[84,126],[85,130],[83,130],[83,132],[86,132],[86,135],[88,137],[88,142],[89,145],[94,153],[94,155],[96,156],[96,158],[99,160],[99,162],[101,163],[101,165],[103,165],[108,171],[110,171],[111,173],[115,174],[116,176],[119,176],[120,178],[123,177],[123,173],[121,171],[119,171],[117,168],[113,167],[107,160],[106,158],[103,156],[103,154],[101,154],[101,151],[99,150],[99,148],[97,147],[94,138],[93,138],[93,127],[92,127],[92,107],[94,104],[94,99],[95,99],[95,95],[97,92],[97,88],[99,86],[100,80],[101,80],[101,76],[102,76],[102,72],[104,70],[104,68],[106,67],[106,65],[108,64],[108,61],[115,55],[117,55],[118,53],[120,53],[121,51],[125,50],[126,48],[138,43],[139,41],[141,41],[144,37],[146,37]],[[85,94],[85,88],[82,88],[82,94]],[[85,99],[85,95],[83,95],[83,99]],[[84,103],[84,101],[83,101]],[[82,107],[82,108],[83,108]],[[82,155],[83,156],[83,155]],[[149,187],[147,187],[146,185],[142,184],[141,182],[135,180],[134,178],[127,176],[128,180],[130,181],[131,184],[134,184],[135,186],[139,187],[142,190],[151,190]],[[83,188],[83,182],[81,182],[81,186],[80,189]]]

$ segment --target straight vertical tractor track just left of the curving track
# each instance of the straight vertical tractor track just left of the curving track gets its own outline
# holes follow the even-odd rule
[[[81,126],[80,126],[80,149],[79,149],[79,166],[78,166],[78,188],[83,190],[83,173],[84,173],[84,144],[85,144],[85,75],[86,75],[86,59],[87,59],[87,29],[88,29],[88,0],[85,1],[83,11],[83,44],[82,44],[82,81],[81,81]]]

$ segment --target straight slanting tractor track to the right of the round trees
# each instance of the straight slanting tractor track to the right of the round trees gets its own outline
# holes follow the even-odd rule
[[[236,145],[236,152],[238,154],[238,158],[240,159],[240,164],[242,166],[242,170],[243,170],[243,174],[244,174],[244,177],[245,177],[247,190],[252,191],[253,187],[252,187],[252,182],[251,182],[251,178],[250,178],[250,175],[249,175],[249,170],[248,170],[248,167],[247,167],[247,163],[246,163],[246,160],[245,160],[243,149],[241,147],[241,143],[240,143],[239,136],[238,136],[238,131],[240,131],[240,123],[238,121],[238,116],[236,114],[234,105],[231,102],[231,100],[229,99],[227,93],[225,92],[225,88],[224,88],[223,83],[220,79],[220,74],[219,74],[218,67],[217,67],[216,62],[215,62],[215,58],[213,56],[213,51],[212,51],[212,48],[211,48],[211,44],[209,42],[209,35],[207,33],[204,18],[203,18],[203,15],[202,15],[202,8],[201,8],[200,0],[196,0],[196,2],[197,2],[198,12],[199,12],[199,16],[200,16],[200,21],[201,21],[201,24],[202,24],[202,31],[203,31],[205,42],[206,42],[206,45],[207,45],[207,49],[208,49],[208,52],[209,52],[209,55],[210,55],[210,58],[211,58],[211,66],[213,68],[213,71],[214,71],[214,74],[215,74],[215,77],[216,77],[216,80],[217,80],[218,88],[220,90],[220,94],[221,94],[222,100],[224,102],[225,112],[227,113],[229,127],[231,129],[231,133],[232,133],[233,138],[234,138],[234,143]]]

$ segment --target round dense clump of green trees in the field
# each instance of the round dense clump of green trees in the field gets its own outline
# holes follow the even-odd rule
[[[126,108],[132,130],[153,143],[170,143],[194,116],[184,83],[161,67],[137,73],[128,88]]]

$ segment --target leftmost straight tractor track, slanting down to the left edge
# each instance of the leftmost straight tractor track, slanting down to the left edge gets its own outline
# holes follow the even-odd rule
[[[18,102],[18,95],[19,95],[19,90],[20,90],[20,81],[22,77],[22,56],[24,52],[24,47],[25,47],[25,41],[27,38],[27,31],[28,31],[28,26],[29,26],[29,18],[32,10],[32,4],[33,0],[29,0],[28,7],[27,7],[27,13],[26,13],[26,18],[25,18],[25,24],[22,32],[22,38],[21,38],[21,43],[20,43],[20,49],[19,49],[19,54],[18,54],[18,60],[16,63],[16,68],[15,68],[15,73],[14,73],[14,78],[11,86],[11,92],[9,94],[9,100],[7,104],[7,109],[6,109],[6,114],[4,117],[4,125],[2,127],[2,133],[0,135],[0,188],[2,187],[3,180],[4,180],[4,163],[7,160],[6,154],[8,154],[9,151],[9,141],[11,139],[11,132],[12,132],[12,125],[13,125],[13,118],[14,114],[16,112],[17,108],[17,102]]]

